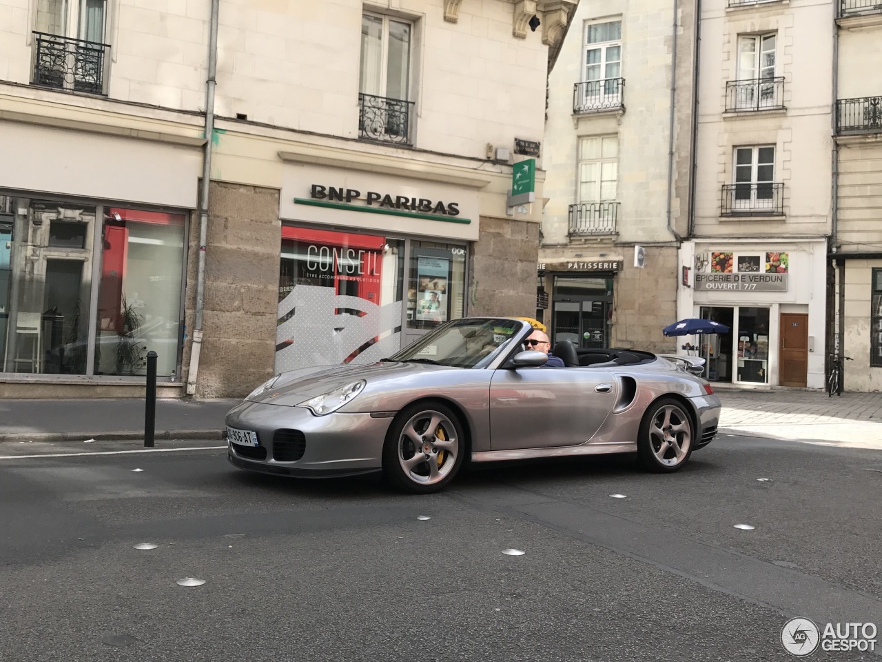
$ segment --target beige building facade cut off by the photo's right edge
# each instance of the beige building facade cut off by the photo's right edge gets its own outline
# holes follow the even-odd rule
[[[882,391],[882,7],[843,0],[834,31],[833,163],[836,206],[830,264],[831,351],[845,388]]]

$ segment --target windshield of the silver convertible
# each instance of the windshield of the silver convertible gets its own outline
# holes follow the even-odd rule
[[[510,348],[512,339],[526,326],[520,320],[453,320],[423,335],[389,360],[482,368],[490,365],[500,352]]]

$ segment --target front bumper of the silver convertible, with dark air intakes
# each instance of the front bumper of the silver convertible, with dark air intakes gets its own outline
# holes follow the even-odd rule
[[[228,460],[236,467],[325,478],[379,470],[392,418],[340,412],[314,416],[303,407],[241,402],[229,410],[226,423],[258,434],[258,447],[228,442]]]

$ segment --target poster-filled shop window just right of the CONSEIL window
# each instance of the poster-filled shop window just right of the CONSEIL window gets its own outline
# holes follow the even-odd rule
[[[427,241],[410,243],[407,328],[430,329],[463,316],[466,247]]]

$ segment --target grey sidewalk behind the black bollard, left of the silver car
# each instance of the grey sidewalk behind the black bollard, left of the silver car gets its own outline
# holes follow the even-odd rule
[[[157,400],[156,439],[220,440],[224,418],[240,399]],[[0,400],[4,441],[143,440],[145,402],[138,398]]]

